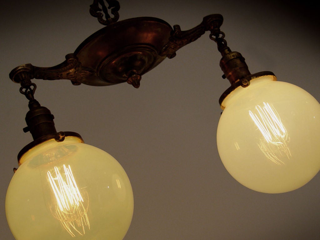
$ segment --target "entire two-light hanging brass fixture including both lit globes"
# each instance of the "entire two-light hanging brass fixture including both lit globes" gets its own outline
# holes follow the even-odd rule
[[[294,190],[316,175],[320,139],[314,130],[320,123],[319,103],[292,84],[276,82],[272,72],[251,74],[242,55],[227,46],[220,31],[220,14],[206,16],[195,28],[181,31],[178,25],[172,29],[164,20],[150,17],[117,22],[119,3],[107,3],[114,18],[108,16],[103,1],[94,1],[90,12],[106,27],[88,37],[64,62],[51,68],[24,64],[10,73],[29,100],[28,127],[24,130],[34,139],[20,151],[21,166],[7,193],[7,218],[17,240],[41,239],[43,232],[51,239],[48,231],[52,239],[122,239],[133,209],[131,185],[122,167],[105,152],[85,145],[79,134],[57,132],[50,111],[34,99],[36,85],[31,79],[68,79],[74,85],[93,86],[127,82],[138,88],[144,73],[166,57],[174,57],[176,51],[206,31],[218,45],[220,67],[231,84],[219,100],[224,111],[217,136],[219,154],[228,172],[243,185],[267,193]],[[102,172],[95,172],[97,177],[89,180],[83,177],[83,171],[95,170],[86,164],[92,159]],[[95,187],[98,179],[108,184],[103,189]],[[34,188],[26,189],[27,185]],[[42,196],[43,191],[47,194]],[[30,207],[19,208],[25,206],[26,199]],[[98,208],[94,201],[108,203]],[[36,212],[33,205],[43,208]],[[101,220],[106,214],[114,215]],[[24,221],[25,215],[32,215],[34,222]],[[40,222],[50,228],[32,228]],[[108,227],[101,231],[97,226]]]

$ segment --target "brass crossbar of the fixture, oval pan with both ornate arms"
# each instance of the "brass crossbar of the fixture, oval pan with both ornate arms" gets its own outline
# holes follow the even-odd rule
[[[24,79],[68,79],[72,84],[106,86],[127,82],[140,86],[141,76],[181,47],[195,41],[205,31],[220,31],[220,14],[204,17],[196,27],[181,31],[164,20],[139,17],[109,24],[89,36],[74,53],[54,67],[23,64],[10,73],[13,82]]]

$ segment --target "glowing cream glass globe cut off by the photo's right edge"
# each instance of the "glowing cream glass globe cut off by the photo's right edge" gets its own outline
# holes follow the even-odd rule
[[[263,76],[236,88],[221,108],[219,155],[247,188],[288,192],[319,171],[320,104],[308,92]]]

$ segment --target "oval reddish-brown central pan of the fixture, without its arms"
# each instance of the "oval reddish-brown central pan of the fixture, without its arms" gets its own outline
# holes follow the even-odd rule
[[[100,29],[74,52],[82,66],[95,71],[81,83],[106,86],[126,82],[132,71],[143,75],[166,58],[159,53],[171,31],[167,22],[153,17],[126,19]]]

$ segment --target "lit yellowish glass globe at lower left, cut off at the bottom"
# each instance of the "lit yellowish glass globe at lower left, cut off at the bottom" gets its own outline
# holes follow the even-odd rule
[[[132,220],[128,176],[108,153],[66,137],[20,159],[5,202],[17,240],[124,238]]]

